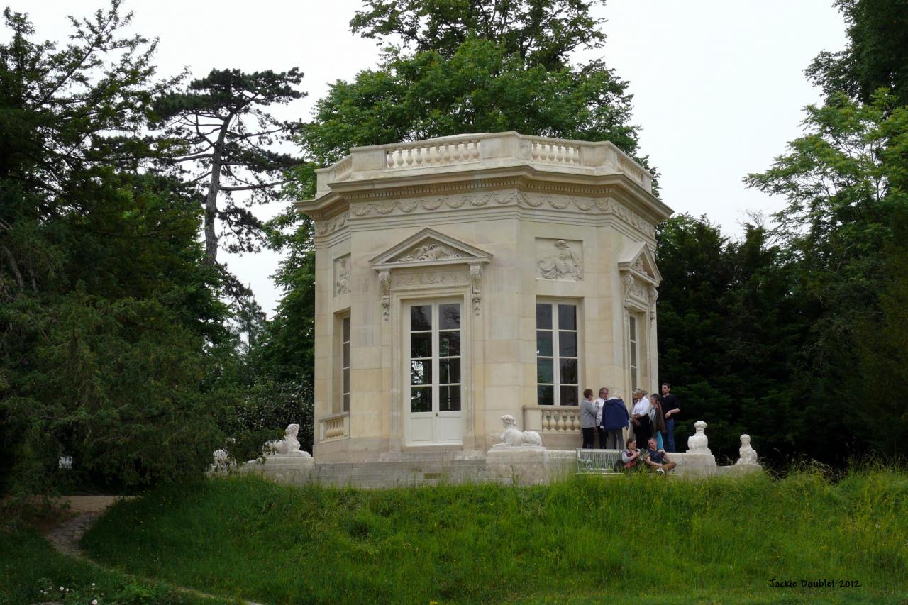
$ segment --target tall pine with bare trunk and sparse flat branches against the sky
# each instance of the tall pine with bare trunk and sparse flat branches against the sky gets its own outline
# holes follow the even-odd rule
[[[286,172],[300,164],[273,148],[294,134],[297,124],[266,110],[302,98],[301,80],[295,67],[252,74],[215,69],[154,104],[155,119],[171,145],[165,158],[194,166],[192,182],[204,188],[205,255],[212,264],[218,253],[217,221],[231,235],[230,252],[258,250],[262,222],[248,208],[279,199]],[[243,193],[241,204],[234,193]]]

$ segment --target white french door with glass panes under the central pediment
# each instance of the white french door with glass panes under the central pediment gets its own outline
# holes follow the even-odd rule
[[[461,304],[406,305],[404,344],[408,445],[459,445],[463,441]]]

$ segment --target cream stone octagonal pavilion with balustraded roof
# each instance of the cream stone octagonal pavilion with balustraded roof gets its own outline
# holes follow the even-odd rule
[[[614,144],[462,134],[316,172],[317,461],[481,457],[504,414],[572,449],[584,389],[655,390],[672,211]]]

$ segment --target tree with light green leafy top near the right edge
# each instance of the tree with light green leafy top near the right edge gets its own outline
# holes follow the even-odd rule
[[[908,107],[882,90],[871,104],[834,94],[807,108],[804,128],[787,154],[746,183],[787,200],[775,234],[790,255],[791,297],[805,327],[789,395],[804,405],[792,422],[804,422],[795,430],[801,450],[828,458],[877,438],[851,402],[875,397],[858,372],[860,327],[879,316],[891,275],[886,251],[897,245],[893,225],[908,208],[899,184],[908,170]],[[845,447],[830,451],[832,436]]]

